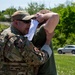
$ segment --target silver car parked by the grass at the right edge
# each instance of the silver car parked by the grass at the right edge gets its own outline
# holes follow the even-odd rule
[[[75,45],[66,45],[63,48],[58,48],[57,52],[59,54],[65,54],[65,53],[75,54]]]

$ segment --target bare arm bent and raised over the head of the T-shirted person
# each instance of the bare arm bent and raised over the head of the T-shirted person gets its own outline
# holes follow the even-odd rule
[[[40,23],[46,20],[44,24],[44,28],[49,32],[52,33],[59,22],[59,16],[57,13],[50,12],[46,14],[37,13],[36,18]]]

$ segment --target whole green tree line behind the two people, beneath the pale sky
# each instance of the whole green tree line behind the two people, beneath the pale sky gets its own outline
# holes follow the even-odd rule
[[[60,16],[59,24],[56,27],[55,35],[52,39],[53,48],[56,50],[58,47],[62,47],[67,44],[75,44],[75,3],[70,2],[69,4],[59,4],[54,8],[46,8],[44,4],[30,3],[27,8],[18,9],[14,7],[7,8],[4,11],[0,11],[0,21],[11,21],[8,18],[16,10],[25,10],[30,14],[35,14],[39,10],[48,9],[56,12]],[[6,18],[7,17],[7,18]]]

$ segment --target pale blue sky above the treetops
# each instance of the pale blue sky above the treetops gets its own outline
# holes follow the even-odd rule
[[[59,4],[67,3],[67,1],[75,2],[75,0],[0,0],[0,11],[6,10],[12,6],[15,8],[19,6],[25,8],[31,2],[37,2],[38,4],[44,4],[45,7],[53,8]]]

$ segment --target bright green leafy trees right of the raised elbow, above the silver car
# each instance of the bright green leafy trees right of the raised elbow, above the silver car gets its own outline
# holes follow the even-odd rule
[[[60,15],[60,21],[53,38],[54,48],[56,49],[66,44],[75,44],[75,4],[59,5],[52,10]]]

